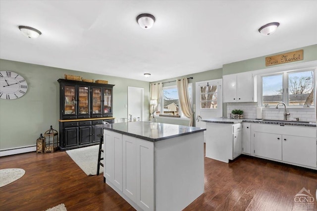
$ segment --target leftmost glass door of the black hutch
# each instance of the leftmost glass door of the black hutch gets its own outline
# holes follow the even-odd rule
[[[64,112],[63,116],[76,115],[76,86],[65,85],[64,86]]]

